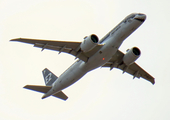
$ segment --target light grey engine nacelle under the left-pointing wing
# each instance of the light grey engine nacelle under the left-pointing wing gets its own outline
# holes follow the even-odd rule
[[[98,42],[98,37],[95,34],[92,34],[84,38],[84,41],[80,44],[80,48],[83,52],[89,52],[98,44]]]

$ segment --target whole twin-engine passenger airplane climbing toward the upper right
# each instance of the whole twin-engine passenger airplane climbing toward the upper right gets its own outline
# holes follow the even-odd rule
[[[143,78],[155,83],[155,78],[142,69],[135,61],[140,57],[138,47],[128,49],[124,54],[119,50],[123,41],[132,34],[146,19],[142,13],[132,13],[125,17],[115,28],[106,34],[101,40],[95,34],[84,38],[83,42],[53,41],[29,38],[16,38],[10,41],[18,41],[33,44],[34,47],[65,52],[75,56],[78,60],[72,64],[59,77],[55,76],[47,68],[43,76],[46,86],[26,85],[24,88],[44,93],[42,99],[54,96],[67,100],[63,89],[77,82],[86,73],[98,67],[108,67],[110,70],[118,68],[123,73],[129,73],[134,78]]]

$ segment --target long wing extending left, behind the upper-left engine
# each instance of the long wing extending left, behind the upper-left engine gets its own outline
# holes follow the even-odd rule
[[[16,38],[10,41],[33,44],[34,47],[42,48],[42,51],[44,49],[49,49],[49,50],[58,51],[59,53],[61,52],[69,53],[85,62],[88,60],[89,57],[95,54],[103,46],[103,45],[97,45],[91,51],[84,53],[80,49],[81,42],[52,41],[52,40],[40,40],[40,39],[29,39],[29,38]]]

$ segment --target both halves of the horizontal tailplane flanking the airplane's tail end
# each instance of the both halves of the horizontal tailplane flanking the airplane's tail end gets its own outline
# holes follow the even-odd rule
[[[40,86],[40,85],[26,85],[26,86],[24,86],[24,88],[33,90],[33,91],[37,91],[37,92],[41,92],[41,93],[47,93],[52,87],[51,86]],[[52,96],[60,98],[62,100],[68,99],[68,97],[62,91],[60,91]]]

